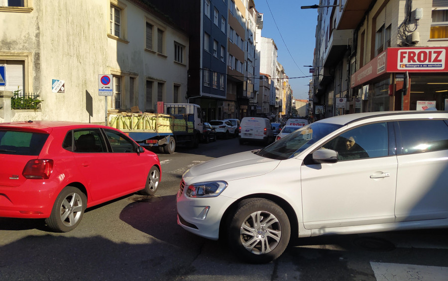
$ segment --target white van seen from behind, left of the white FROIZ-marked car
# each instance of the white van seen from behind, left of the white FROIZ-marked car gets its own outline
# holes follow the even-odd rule
[[[274,131],[269,119],[262,117],[244,117],[239,127],[239,143],[263,142],[268,145],[274,141]]]

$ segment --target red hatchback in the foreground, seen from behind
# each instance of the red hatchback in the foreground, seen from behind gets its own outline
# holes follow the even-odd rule
[[[0,217],[45,218],[73,230],[84,210],[140,191],[152,195],[159,158],[114,128],[63,121],[0,123]]]

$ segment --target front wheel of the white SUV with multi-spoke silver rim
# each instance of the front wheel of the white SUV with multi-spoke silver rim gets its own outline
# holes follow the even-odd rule
[[[268,263],[285,251],[291,225],[285,211],[273,201],[250,198],[239,202],[227,235],[238,257],[249,263]]]

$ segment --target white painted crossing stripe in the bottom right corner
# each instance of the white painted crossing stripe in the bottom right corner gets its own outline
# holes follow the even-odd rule
[[[370,262],[377,281],[446,281],[448,268]]]

